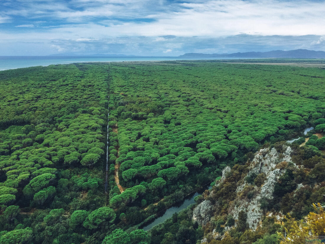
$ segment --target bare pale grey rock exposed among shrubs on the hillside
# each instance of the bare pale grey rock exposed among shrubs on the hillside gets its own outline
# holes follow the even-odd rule
[[[248,173],[241,175],[238,182],[233,182],[236,184],[236,197],[229,202],[227,211],[228,215],[233,216],[235,220],[234,225],[224,226],[224,231],[222,233],[214,229],[212,233],[210,233],[210,237],[214,239],[224,238],[225,232],[237,226],[240,211],[243,211],[247,216],[246,223],[250,229],[256,230],[261,224],[265,216],[261,203],[267,203],[269,200],[273,199],[275,184],[279,177],[285,173],[285,166],[287,163],[292,163],[291,147],[283,145],[280,151],[282,153],[279,153],[276,148],[264,148],[255,153],[252,162],[248,166]],[[292,163],[292,165],[298,167],[294,163]],[[219,186],[223,187],[223,183],[227,181],[230,170],[231,168],[227,166],[222,171],[222,177],[218,182]],[[303,187],[303,185],[300,184],[298,185],[298,188],[299,187]],[[213,194],[213,191],[211,191],[210,194]],[[193,210],[193,220],[201,225],[207,224],[212,217],[213,208],[214,206],[211,201],[203,201]],[[216,209],[218,209],[218,206]],[[273,214],[278,220],[283,217],[281,217],[281,212],[270,212],[268,216]],[[206,238],[201,240],[201,243],[204,242],[206,242]]]

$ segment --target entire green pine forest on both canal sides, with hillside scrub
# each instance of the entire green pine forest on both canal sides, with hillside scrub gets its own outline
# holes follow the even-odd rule
[[[291,213],[290,221],[319,211],[311,204],[325,203],[324,90],[324,69],[312,67],[175,61],[1,71],[0,244],[279,243],[290,232],[285,221],[263,220],[255,232],[229,203],[245,177],[243,198],[263,185],[263,175],[246,176],[256,151],[284,154],[298,135],[292,158],[304,167],[281,166],[263,211]],[[301,183],[310,188],[296,197]],[[197,203],[217,203],[211,223],[194,221],[191,205],[142,229],[198,190],[206,191]]]

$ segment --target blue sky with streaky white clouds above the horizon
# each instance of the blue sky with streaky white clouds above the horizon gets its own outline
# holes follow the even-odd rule
[[[325,51],[325,0],[0,0],[0,56]]]

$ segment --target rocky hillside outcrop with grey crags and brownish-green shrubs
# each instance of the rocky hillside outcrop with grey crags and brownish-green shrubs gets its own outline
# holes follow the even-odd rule
[[[311,154],[306,148],[291,147],[287,143],[276,143],[274,146],[257,151],[253,157],[248,154],[250,160],[246,164],[236,164],[231,169],[226,167],[213,190],[209,194],[205,192],[200,198],[206,200],[202,206],[208,201],[214,203],[213,213],[209,213],[210,204],[195,209],[193,219],[205,224],[205,238],[201,243],[207,240],[214,243],[213,239],[222,240],[229,234],[234,240],[239,231],[248,229],[262,233],[265,231],[262,221],[269,225],[282,222],[288,212],[301,215],[305,212],[306,199],[311,199],[308,195],[322,197],[319,187],[324,184],[319,181],[323,176],[318,178],[318,183],[306,181],[310,176],[315,177],[316,170],[320,170],[314,163],[318,162],[318,166],[320,162],[324,163],[312,156],[319,152]],[[207,212],[204,209],[208,209]],[[211,219],[210,214],[213,215]],[[207,222],[209,219],[210,222]],[[246,236],[241,235],[242,238]]]

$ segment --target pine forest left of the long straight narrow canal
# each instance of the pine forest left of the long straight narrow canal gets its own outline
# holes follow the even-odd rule
[[[3,71],[0,101],[0,242],[77,244],[113,230],[103,207],[108,66]]]

